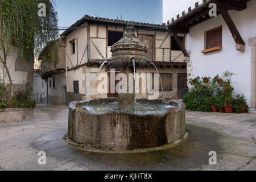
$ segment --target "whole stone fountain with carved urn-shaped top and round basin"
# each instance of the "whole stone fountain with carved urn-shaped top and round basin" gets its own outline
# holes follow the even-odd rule
[[[143,68],[147,64],[147,48],[134,30],[132,23],[127,24],[124,38],[112,46],[113,57],[108,60],[109,65],[127,77],[135,72],[135,67]],[[135,81],[128,87],[134,85]],[[132,93],[119,93],[118,98],[71,102],[65,139],[69,145],[84,150],[136,152],[175,146],[188,135],[183,102],[136,99],[133,89]]]

